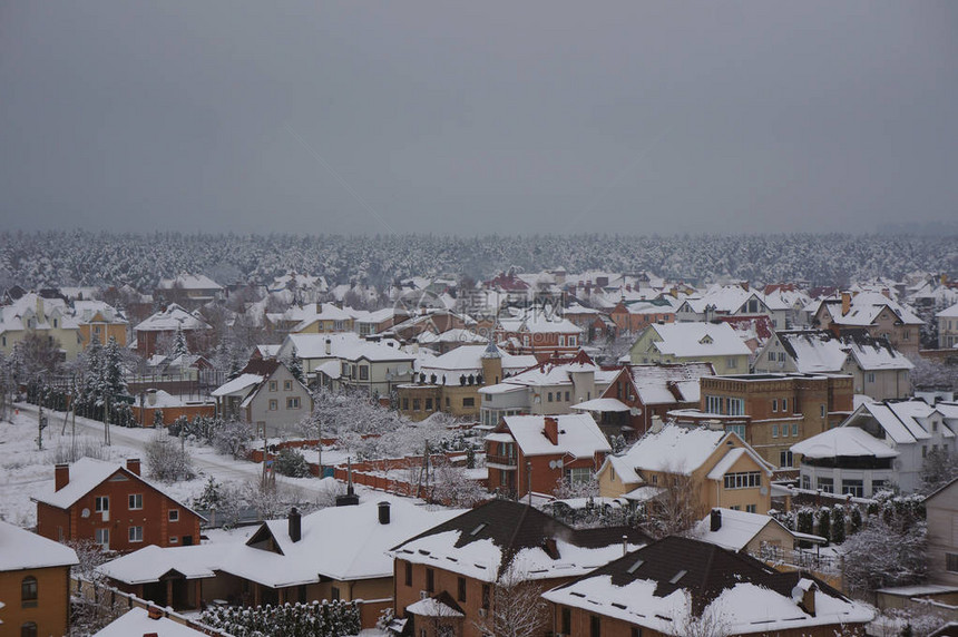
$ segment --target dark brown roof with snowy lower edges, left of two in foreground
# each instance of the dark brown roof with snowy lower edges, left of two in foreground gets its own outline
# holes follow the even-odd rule
[[[397,559],[481,581],[576,577],[647,541],[630,527],[573,529],[529,506],[490,500],[397,546]]]

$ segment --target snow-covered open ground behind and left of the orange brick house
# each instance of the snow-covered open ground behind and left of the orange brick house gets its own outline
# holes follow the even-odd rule
[[[71,419],[65,424],[62,412],[46,411],[49,425],[43,431],[43,449],[37,445],[37,408],[18,404],[13,422],[0,422],[0,519],[23,528],[37,523],[37,506],[30,500],[53,481],[53,465],[69,458],[74,442]],[[127,458],[144,458],[144,445],[155,435],[154,429],[126,429],[110,427],[110,445],[104,444],[104,423],[77,418],[75,444],[89,450],[92,457],[123,463]],[[199,496],[207,478],[213,477],[223,484],[245,487],[260,479],[262,465],[244,460],[234,460],[218,454],[206,445],[187,445],[197,477],[193,480],[165,484],[164,490],[174,498],[189,503]],[[324,453],[324,461],[329,458]],[[144,477],[148,478],[144,465]],[[329,481],[315,478],[286,478],[276,481],[292,490],[296,499],[313,501],[329,498]],[[361,489],[358,489],[360,492]]]

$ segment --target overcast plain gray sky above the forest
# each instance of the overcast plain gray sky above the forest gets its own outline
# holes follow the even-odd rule
[[[958,2],[0,0],[6,228],[958,217]]]

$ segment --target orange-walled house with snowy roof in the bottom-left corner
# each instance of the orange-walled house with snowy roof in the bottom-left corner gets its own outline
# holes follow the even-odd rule
[[[0,634],[67,635],[74,549],[0,520]]]

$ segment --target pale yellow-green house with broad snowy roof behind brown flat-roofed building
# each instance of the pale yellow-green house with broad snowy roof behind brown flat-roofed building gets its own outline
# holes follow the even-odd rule
[[[751,350],[726,323],[649,325],[629,349],[633,364],[712,363],[717,374],[749,372]]]

